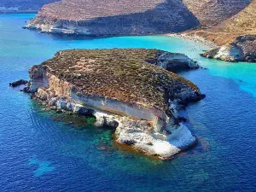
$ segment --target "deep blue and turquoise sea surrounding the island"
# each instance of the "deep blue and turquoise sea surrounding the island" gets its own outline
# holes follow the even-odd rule
[[[23,30],[32,15],[0,15],[1,191],[256,191],[256,64],[198,56],[205,46],[170,37],[72,38]],[[15,79],[59,49],[157,48],[183,52],[207,70],[182,73],[207,97],[184,112],[199,139],[174,160],[120,149],[113,130],[53,120]]]

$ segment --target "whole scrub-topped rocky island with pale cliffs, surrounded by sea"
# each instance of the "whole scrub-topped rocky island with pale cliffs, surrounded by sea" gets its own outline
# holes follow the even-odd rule
[[[187,58],[187,60],[184,60]],[[118,143],[169,159],[196,142],[180,123],[180,105],[200,101],[198,87],[176,73],[198,67],[157,49],[70,49],[33,66],[29,91],[49,107],[92,114],[116,129]]]

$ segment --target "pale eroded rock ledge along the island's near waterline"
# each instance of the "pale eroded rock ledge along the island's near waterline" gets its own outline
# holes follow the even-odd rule
[[[177,125],[170,125],[165,130],[160,131],[157,130],[162,128],[160,119],[156,118],[153,122],[134,119],[128,116],[90,108],[79,104],[80,102],[72,101],[67,97],[50,97],[49,94],[45,90],[38,90],[38,92],[32,94],[32,99],[37,100],[56,112],[92,115],[96,118],[96,126],[111,126],[115,129],[117,143],[129,145],[131,148],[142,151],[149,156],[157,156],[162,160],[169,160],[175,154],[179,154],[197,143],[196,138],[191,134],[189,129],[179,122],[175,102],[172,103],[171,110],[175,114],[173,118],[177,120]]]

